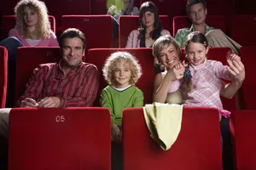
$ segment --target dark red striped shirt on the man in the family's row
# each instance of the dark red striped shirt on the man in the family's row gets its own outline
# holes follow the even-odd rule
[[[99,88],[99,71],[96,65],[82,62],[78,68],[64,77],[59,63],[39,65],[26,83],[26,91],[17,105],[26,98],[39,102],[45,97],[55,96],[61,99],[59,107],[92,106]]]

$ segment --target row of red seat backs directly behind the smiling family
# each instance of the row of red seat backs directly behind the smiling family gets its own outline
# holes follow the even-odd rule
[[[1,107],[4,107],[6,94],[6,77],[7,77],[7,51],[5,48],[1,49]],[[102,88],[107,86],[107,82],[102,77],[102,65],[110,54],[115,51],[127,51],[133,54],[143,68],[143,76],[137,82],[137,87],[143,91],[144,103],[152,103],[152,93],[154,84],[154,57],[151,48],[93,48],[90,49],[85,60],[97,66],[101,72],[101,84],[99,93],[96,98],[95,106],[99,105],[99,94]],[[207,58],[221,61],[227,65],[227,54],[230,54],[230,48],[210,48]],[[253,97],[256,94],[256,80],[254,77],[254,56],[256,55],[256,47],[248,46],[240,49],[242,62],[245,65],[246,79],[241,87],[240,95],[234,96],[232,99],[222,99],[224,109],[229,111],[236,111],[238,109],[256,109],[253,102]],[[182,56],[184,57],[184,51]],[[15,101],[25,91],[25,85],[29,77],[39,64],[57,62],[61,59],[60,48],[50,47],[23,47],[18,48],[16,61],[16,89]],[[2,62],[3,61],[3,62]],[[27,64],[29,62],[29,65]],[[24,66],[26,65],[26,66]],[[4,70],[5,69],[5,70]],[[3,96],[3,97],[2,97]],[[237,98],[237,99],[236,99]],[[237,102],[236,102],[237,101]]]

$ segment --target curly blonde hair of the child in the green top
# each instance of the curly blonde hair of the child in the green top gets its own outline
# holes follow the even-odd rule
[[[103,66],[103,76],[109,85],[113,85],[113,71],[120,62],[124,61],[125,65],[129,65],[131,70],[131,79],[129,83],[134,85],[139,77],[142,76],[141,65],[138,64],[138,61],[130,53],[127,52],[115,52],[111,54],[106,60],[105,65]]]

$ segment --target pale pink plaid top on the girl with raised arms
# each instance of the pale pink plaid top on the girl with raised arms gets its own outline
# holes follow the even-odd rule
[[[193,88],[184,93],[184,105],[210,106],[223,109],[220,100],[222,82],[220,78],[231,80],[230,72],[219,61],[207,60],[202,65],[189,66],[192,75]],[[185,84],[183,88],[186,88]],[[186,89],[182,90],[186,91]]]

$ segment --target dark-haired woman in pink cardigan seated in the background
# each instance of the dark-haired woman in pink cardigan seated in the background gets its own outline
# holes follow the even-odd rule
[[[151,48],[158,37],[170,35],[169,31],[163,29],[158,9],[152,2],[142,4],[139,23],[139,28],[131,31],[125,48]]]

